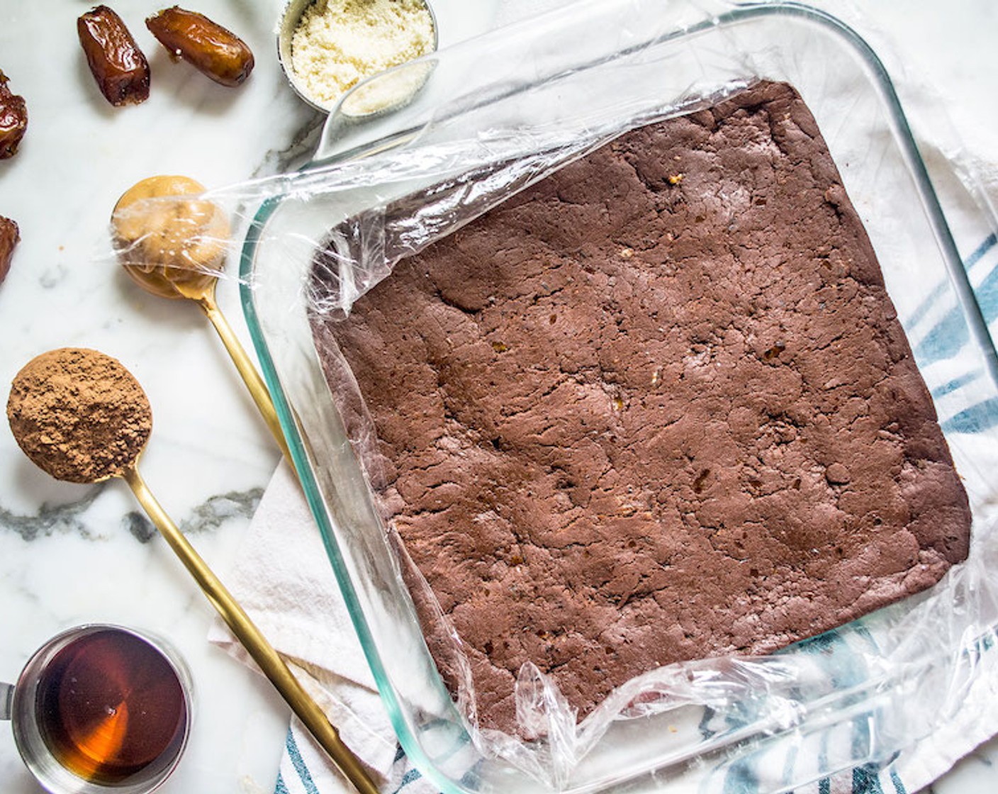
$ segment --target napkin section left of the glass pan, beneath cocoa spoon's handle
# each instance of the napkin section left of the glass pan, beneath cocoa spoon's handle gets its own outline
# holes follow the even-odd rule
[[[288,661],[341,738],[383,791],[432,791],[410,774],[339,594],[318,528],[290,466],[274,471],[240,549],[229,589]],[[209,639],[247,664],[246,651],[217,620]],[[276,792],[333,794],[349,784],[292,719]]]

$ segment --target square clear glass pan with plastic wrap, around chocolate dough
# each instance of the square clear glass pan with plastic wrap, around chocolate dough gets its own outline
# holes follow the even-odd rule
[[[241,277],[253,344],[332,571],[420,770],[444,792],[651,791],[687,778],[723,790],[746,776],[782,791],[888,760],[966,707],[966,687],[990,669],[978,651],[998,619],[986,564],[998,495],[986,450],[998,438],[974,418],[998,397],[998,358],[876,55],[802,5],[601,0],[416,67],[425,82],[396,113],[356,124],[342,105],[334,111],[321,162],[282,178],[259,207]],[[927,596],[815,641],[759,660],[687,665],[669,692],[675,708],[616,721],[588,744],[529,758],[515,748],[483,754],[436,673],[318,363],[307,318],[317,247],[339,221],[472,165],[529,158],[553,141],[563,157],[566,141],[675,115],[758,78],[800,92],[866,226],[967,486],[970,559]],[[983,210],[978,220],[994,229]],[[444,223],[434,234],[447,231]],[[353,267],[350,276],[364,288],[385,273]],[[944,339],[931,333],[940,323]],[[778,774],[759,782],[775,758]]]

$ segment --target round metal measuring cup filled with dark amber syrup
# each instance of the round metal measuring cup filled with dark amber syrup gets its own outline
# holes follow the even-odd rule
[[[191,728],[191,675],[143,631],[78,626],[0,684],[25,764],[53,794],[148,794],[174,771]]]

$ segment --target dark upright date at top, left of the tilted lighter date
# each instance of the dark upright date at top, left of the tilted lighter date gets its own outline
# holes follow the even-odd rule
[[[91,9],[77,19],[76,32],[97,87],[108,102],[118,107],[149,99],[149,62],[113,9]]]

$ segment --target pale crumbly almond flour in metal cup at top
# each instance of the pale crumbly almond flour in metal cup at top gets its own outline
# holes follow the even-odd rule
[[[331,107],[363,78],[433,48],[423,0],[317,0],[291,37],[291,70],[313,102]]]

